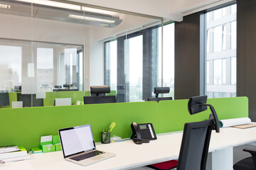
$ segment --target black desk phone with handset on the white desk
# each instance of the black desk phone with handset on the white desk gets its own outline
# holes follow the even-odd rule
[[[149,143],[149,140],[156,140],[156,133],[152,123],[137,124],[132,123],[132,137],[135,144]]]

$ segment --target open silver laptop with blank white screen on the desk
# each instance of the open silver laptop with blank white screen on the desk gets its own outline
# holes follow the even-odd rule
[[[115,154],[96,149],[90,125],[80,125],[58,130],[64,159],[76,164],[87,166]]]

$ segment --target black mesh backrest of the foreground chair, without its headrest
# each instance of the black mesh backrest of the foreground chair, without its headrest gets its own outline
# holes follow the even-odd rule
[[[177,170],[205,170],[213,119],[184,126]]]

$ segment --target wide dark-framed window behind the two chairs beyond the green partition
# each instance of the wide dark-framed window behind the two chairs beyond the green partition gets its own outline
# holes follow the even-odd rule
[[[156,86],[169,86],[164,96],[174,97],[174,23],[163,30],[163,56],[157,26],[105,42],[105,84],[117,89],[117,102],[147,101]]]

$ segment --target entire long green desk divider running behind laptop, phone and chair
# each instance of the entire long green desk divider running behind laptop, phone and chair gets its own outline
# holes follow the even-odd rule
[[[248,117],[247,97],[209,98],[218,118]],[[90,124],[95,142],[102,128],[117,123],[112,135],[131,137],[130,125],[152,123],[156,133],[183,130],[184,123],[208,118],[208,111],[190,115],[188,100],[105,103],[80,106],[3,108],[1,109],[0,146],[18,145],[27,150],[38,147],[41,136],[58,135],[58,129]]]

